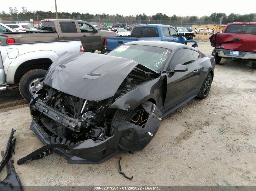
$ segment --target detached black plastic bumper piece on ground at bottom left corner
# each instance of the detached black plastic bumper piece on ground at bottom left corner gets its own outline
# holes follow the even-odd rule
[[[3,170],[4,166],[6,166],[7,177],[5,180],[0,182],[0,190],[2,191],[24,191],[21,181],[19,179],[18,174],[15,172],[15,168],[13,166],[13,160],[9,163],[8,161],[12,157],[12,152],[14,152],[14,146],[16,138],[13,139],[13,134],[16,130],[12,129],[11,135],[9,136],[7,146],[5,149],[4,156],[0,163],[0,173]]]

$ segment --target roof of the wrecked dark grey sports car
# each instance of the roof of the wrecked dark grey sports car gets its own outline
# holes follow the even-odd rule
[[[176,50],[176,49],[180,49],[180,48],[195,49],[192,46],[188,46],[188,45],[185,45],[185,44],[165,42],[165,41],[137,40],[137,41],[132,41],[132,42],[125,43],[125,45],[127,45],[127,44],[155,46],[155,47],[160,47],[160,48],[167,48],[167,49],[170,49],[170,50],[171,49]]]

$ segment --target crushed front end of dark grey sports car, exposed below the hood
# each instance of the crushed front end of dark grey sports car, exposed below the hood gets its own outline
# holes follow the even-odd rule
[[[63,144],[54,152],[69,163],[94,164],[118,151],[122,131],[110,131],[112,98],[88,101],[47,86],[40,92],[30,104],[30,130],[45,145]]]

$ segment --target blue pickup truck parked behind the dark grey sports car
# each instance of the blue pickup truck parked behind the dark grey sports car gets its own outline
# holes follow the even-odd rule
[[[136,40],[157,40],[175,43],[187,44],[194,43],[192,46],[198,46],[195,40],[186,40],[182,33],[178,33],[174,27],[163,24],[139,24],[135,25],[131,30],[130,36],[113,36],[106,37],[105,45],[107,51],[111,51],[116,47]]]

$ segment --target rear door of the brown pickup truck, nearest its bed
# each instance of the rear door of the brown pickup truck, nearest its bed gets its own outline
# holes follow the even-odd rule
[[[75,21],[57,21],[60,40],[80,40]]]

